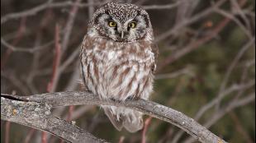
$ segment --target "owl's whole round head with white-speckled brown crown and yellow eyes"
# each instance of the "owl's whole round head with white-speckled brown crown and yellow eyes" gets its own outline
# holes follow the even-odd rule
[[[97,35],[116,42],[153,39],[149,14],[133,4],[109,2],[103,5],[93,14],[89,26]]]

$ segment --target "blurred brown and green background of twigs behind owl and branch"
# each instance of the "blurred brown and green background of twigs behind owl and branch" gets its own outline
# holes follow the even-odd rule
[[[1,0],[1,93],[81,90],[79,45],[107,0]],[[144,7],[159,60],[152,100],[194,118],[232,143],[255,142],[255,1],[124,0]],[[60,45],[59,47],[56,45]],[[116,131],[97,106],[55,108],[111,142],[197,142],[172,124],[145,116],[148,128]],[[61,142],[1,120],[1,142]]]

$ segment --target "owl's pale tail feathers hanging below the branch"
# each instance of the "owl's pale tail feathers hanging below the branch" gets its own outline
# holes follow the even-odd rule
[[[102,106],[107,117],[118,131],[125,127],[127,131],[135,132],[143,128],[142,113],[130,108]]]

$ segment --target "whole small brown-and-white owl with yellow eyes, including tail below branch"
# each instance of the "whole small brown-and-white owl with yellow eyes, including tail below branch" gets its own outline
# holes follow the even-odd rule
[[[100,99],[149,99],[153,90],[158,48],[149,14],[133,4],[109,2],[98,8],[88,24],[80,61],[87,90]],[[142,113],[102,105],[117,130],[143,127]]]

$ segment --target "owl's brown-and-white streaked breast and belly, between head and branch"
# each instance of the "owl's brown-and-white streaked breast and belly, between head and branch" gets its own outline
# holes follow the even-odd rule
[[[101,98],[147,98],[152,90],[154,53],[149,43],[115,43],[104,39],[83,43],[82,62],[88,89]]]

